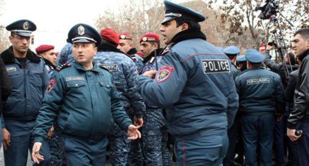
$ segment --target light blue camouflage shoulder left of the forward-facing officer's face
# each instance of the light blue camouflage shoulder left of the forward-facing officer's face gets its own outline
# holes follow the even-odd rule
[[[56,58],[56,66],[61,66],[63,64],[71,64],[74,61],[74,55],[72,53],[73,45],[68,42],[63,46]]]

